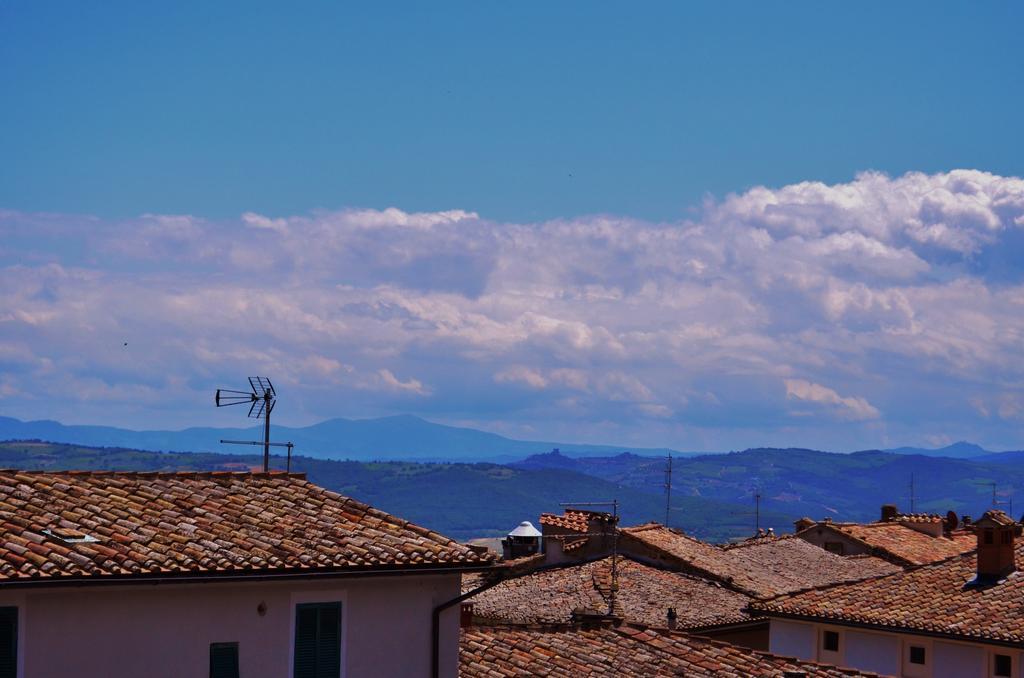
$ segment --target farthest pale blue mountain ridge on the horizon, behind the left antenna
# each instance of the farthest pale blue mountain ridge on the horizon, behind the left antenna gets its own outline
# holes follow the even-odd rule
[[[514,440],[471,428],[435,424],[419,417],[330,419],[301,428],[273,426],[273,438],[292,441],[296,451],[324,459],[410,459],[423,461],[510,461],[560,448],[569,455],[615,455],[627,451],[665,455],[663,449]],[[23,422],[0,417],[0,440],[41,439],[72,444],[123,447],[164,452],[238,453],[219,440],[262,439],[262,429],[186,428],[181,431],[132,431],[108,426],[66,426],[55,421]],[[682,453],[673,452],[680,455]]]

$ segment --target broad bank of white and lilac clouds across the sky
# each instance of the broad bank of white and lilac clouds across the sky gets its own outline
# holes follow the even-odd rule
[[[660,224],[2,212],[0,243],[15,416],[180,421],[119,396],[135,392],[209,421],[205,385],[265,371],[305,420],[402,411],[417,395],[437,418],[693,435],[706,449],[738,447],[737,427],[758,432],[751,443],[805,442],[797,427],[866,446],[874,423],[895,435],[936,420],[956,438],[1024,434],[1016,177],[756,187]],[[67,383],[94,399],[73,402]]]

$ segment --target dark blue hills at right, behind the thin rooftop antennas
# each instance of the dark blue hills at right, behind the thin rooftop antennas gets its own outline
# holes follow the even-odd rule
[[[551,455],[523,460],[522,468],[543,468]],[[623,455],[573,459],[572,469],[649,494],[665,482],[665,460]],[[793,518],[809,515],[845,520],[876,520],[884,503],[910,508],[913,476],[918,511],[980,515],[991,507],[996,483],[1001,508],[1016,493],[1024,509],[1024,453],[1004,453],[982,459],[955,459],[866,451],[839,455],[815,450],[757,449],[725,455],[676,459],[673,492],[750,506],[755,493],[762,507]],[[790,525],[785,526],[786,529]]]

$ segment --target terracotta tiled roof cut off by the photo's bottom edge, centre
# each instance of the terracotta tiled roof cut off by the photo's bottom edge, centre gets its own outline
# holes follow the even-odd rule
[[[684,633],[617,628],[470,627],[462,630],[459,675],[508,676],[864,676]]]

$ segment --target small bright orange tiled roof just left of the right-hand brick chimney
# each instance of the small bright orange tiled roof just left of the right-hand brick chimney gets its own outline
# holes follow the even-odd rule
[[[896,562],[924,565],[974,550],[974,533],[958,531],[950,537],[932,537],[898,522],[818,523],[808,529],[831,528],[859,540]]]

